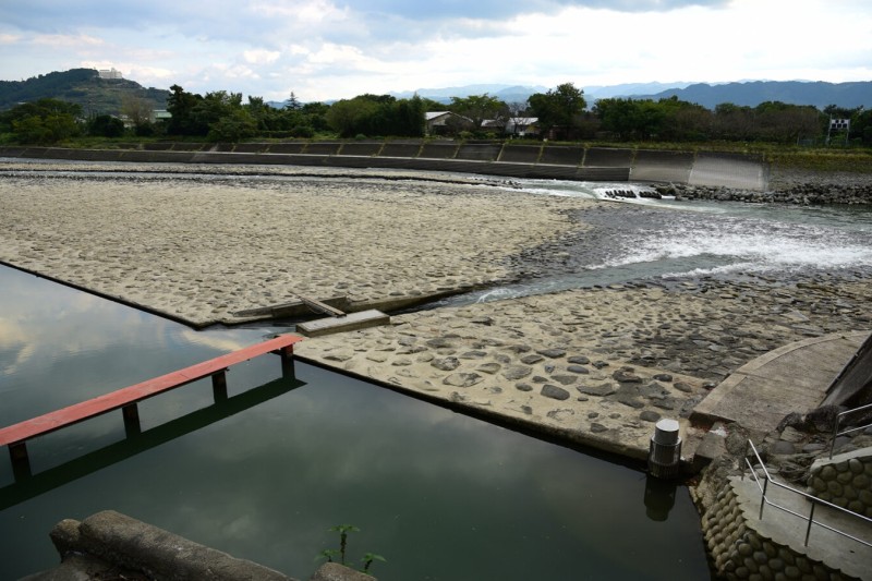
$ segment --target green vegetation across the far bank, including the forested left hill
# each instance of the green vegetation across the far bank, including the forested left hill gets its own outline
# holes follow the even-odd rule
[[[449,105],[419,96],[367,94],[330,105],[302,104],[291,93],[278,108],[254,96],[243,102],[241,93],[198,95],[179,85],[169,92],[144,89],[75,69],[25,82],[0,82],[0,110],[5,109],[0,112],[0,143],[93,147],[131,137],[238,143],[523,135],[623,147],[754,152],[790,167],[869,171],[872,109],[860,106],[818,109],[772,100],[755,106],[722,102],[710,109],[677,96],[606,98],[589,105],[581,88],[565,83],[524,102],[505,102],[487,94],[453,97]],[[156,116],[161,107],[169,114]],[[445,110],[453,113],[447,123],[427,125],[427,111]],[[849,130],[832,128],[832,119],[849,120]],[[821,150],[829,154],[821,157]]]

